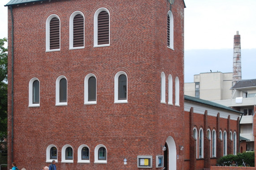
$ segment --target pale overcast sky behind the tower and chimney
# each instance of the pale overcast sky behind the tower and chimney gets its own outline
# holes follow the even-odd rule
[[[9,0],[0,0],[0,38],[7,37],[7,7],[4,5],[8,2]],[[256,71],[252,69],[255,68],[255,62],[247,61],[250,58],[252,61],[256,61],[255,50],[250,50],[252,53],[247,51],[247,56],[243,54],[244,49],[256,49],[256,0],[185,0],[185,4],[187,7],[184,17],[185,82],[192,82],[194,74],[208,72],[210,69],[232,72],[233,54],[231,49],[233,49],[236,31],[239,31],[241,35],[242,78],[256,78]],[[196,50],[199,49],[217,51],[229,49],[231,52],[230,54],[226,52],[221,54],[212,51],[211,53],[219,57],[214,60],[214,56],[209,55],[209,51],[200,50],[197,54]],[[221,62],[221,57],[230,57],[230,59],[226,64],[213,62]],[[224,60],[224,62],[226,61]],[[245,63],[247,65],[243,66]],[[194,69],[191,65],[194,66]],[[251,71],[250,69],[246,71],[245,68],[251,68]]]

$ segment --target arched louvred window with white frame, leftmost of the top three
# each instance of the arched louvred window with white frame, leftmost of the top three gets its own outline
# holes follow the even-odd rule
[[[60,51],[60,18],[50,15],[46,20],[46,51]]]

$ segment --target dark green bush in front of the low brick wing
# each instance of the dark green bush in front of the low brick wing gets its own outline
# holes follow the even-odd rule
[[[249,164],[250,166],[254,166],[254,152],[244,152],[244,153],[238,153],[237,155],[227,155],[224,157],[221,157],[218,159],[217,164],[221,165],[224,162],[229,162],[229,161],[235,161],[238,163],[238,166],[242,166],[243,161],[245,163]],[[229,166],[229,164],[227,164]]]

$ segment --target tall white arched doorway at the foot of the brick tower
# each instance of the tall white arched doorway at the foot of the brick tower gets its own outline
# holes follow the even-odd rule
[[[176,144],[174,138],[169,136],[165,142],[164,166],[165,170],[176,170]]]

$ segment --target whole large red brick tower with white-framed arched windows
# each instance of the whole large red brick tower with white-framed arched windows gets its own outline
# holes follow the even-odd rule
[[[183,0],[7,6],[9,168],[12,161],[35,170],[56,160],[57,170],[183,169]],[[105,24],[99,16],[108,17],[107,33],[95,29]],[[75,37],[75,22],[83,25],[82,40]],[[96,82],[92,98],[90,75]],[[165,155],[165,165],[156,168],[158,155]]]

